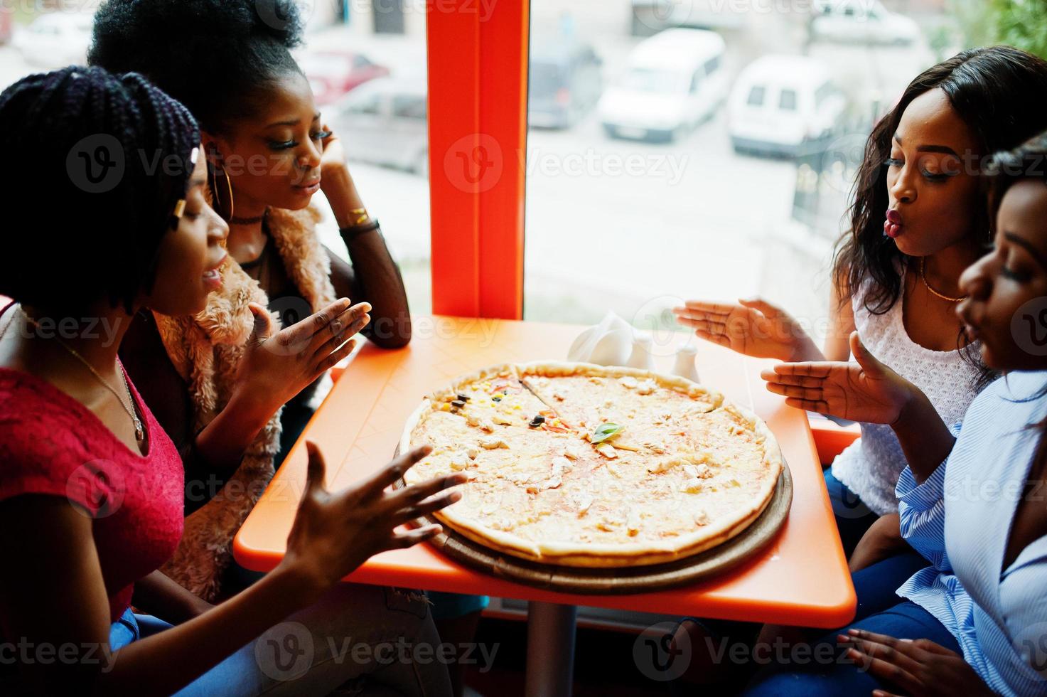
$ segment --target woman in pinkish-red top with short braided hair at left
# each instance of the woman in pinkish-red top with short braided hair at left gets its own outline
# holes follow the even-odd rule
[[[396,528],[458,500],[444,489],[461,476],[386,491],[427,450],[329,493],[309,443],[286,557],[222,605],[156,571],[182,531],[182,464],[117,349],[139,308],[191,314],[220,283],[228,228],[204,201],[199,141],[136,73],[70,67],[0,94],[4,190],[38,216],[0,256],[0,293],[17,302],[0,313],[0,692],[448,694],[433,650],[403,650],[438,640],[425,606],[338,583],[438,531]],[[291,328],[284,352],[324,369],[348,307]]]

